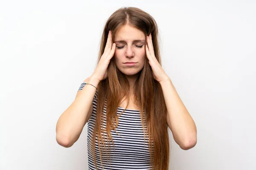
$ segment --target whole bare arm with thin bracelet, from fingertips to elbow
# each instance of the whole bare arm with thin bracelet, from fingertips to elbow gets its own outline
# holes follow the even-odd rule
[[[115,49],[116,44],[112,43],[111,31],[109,31],[104,53],[92,76],[85,79],[86,82],[97,87],[100,81],[108,77],[108,65],[115,53]],[[84,125],[92,114],[92,102],[97,90],[92,85],[85,85],[82,91],[78,91],[75,101],[58,119],[56,140],[63,147],[71,147],[79,139]]]

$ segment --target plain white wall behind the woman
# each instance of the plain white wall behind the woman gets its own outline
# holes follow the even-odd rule
[[[0,170],[87,170],[87,125],[70,148],[57,144],[55,125],[124,6],[157,21],[163,68],[197,125],[191,150],[170,136],[169,169],[256,169],[256,2],[157,2],[0,2]]]

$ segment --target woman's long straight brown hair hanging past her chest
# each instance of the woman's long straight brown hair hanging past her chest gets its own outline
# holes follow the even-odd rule
[[[112,40],[114,40],[115,33],[126,24],[143,31],[145,37],[151,33],[154,55],[161,65],[157,24],[151,15],[135,7],[119,8],[108,18],[102,34],[97,65],[99,64],[99,60],[104,52],[109,30],[112,31]],[[125,78],[125,75],[116,68],[115,57],[112,57],[108,65],[108,78],[99,82],[98,85],[96,124],[93,130],[93,139],[90,142],[93,148],[95,165],[96,135],[102,164],[102,153],[106,153],[106,150],[108,150],[106,147],[106,141],[108,142],[109,146],[110,142],[113,143],[111,130],[115,130],[118,125],[119,116],[117,116],[116,111],[119,107],[121,99],[125,97],[126,99],[128,98],[128,103],[130,101],[128,95],[129,89],[130,85],[128,80]],[[140,108],[140,116],[142,118],[141,121],[144,132],[144,144],[145,133],[147,133],[149,137],[148,149],[150,152],[150,164],[152,170],[168,170],[169,135],[166,122],[167,108],[163,97],[162,88],[159,82],[157,82],[153,77],[153,72],[147,57],[145,57],[143,69],[138,73],[133,90],[135,95],[135,104],[138,106],[138,108]],[[107,124],[106,128],[103,129],[102,114],[106,101]],[[144,122],[147,128],[145,128]],[[102,136],[102,134],[106,134],[106,136]]]

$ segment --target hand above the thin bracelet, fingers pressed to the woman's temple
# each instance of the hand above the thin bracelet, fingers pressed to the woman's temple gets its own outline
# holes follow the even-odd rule
[[[111,34],[111,31],[109,31],[104,53],[102,54],[102,57],[100,58],[99,63],[92,75],[92,77],[97,79],[99,82],[108,77],[108,64],[115,53],[116,44],[113,43],[112,45]]]

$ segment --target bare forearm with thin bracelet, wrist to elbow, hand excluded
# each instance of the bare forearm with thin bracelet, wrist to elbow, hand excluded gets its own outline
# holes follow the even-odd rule
[[[84,82],[98,86],[99,81],[89,77]],[[81,135],[84,125],[90,119],[93,111],[93,98],[96,88],[85,85],[82,91],[78,91],[76,99],[61,114],[56,124],[56,141],[63,147],[71,147]]]

